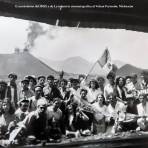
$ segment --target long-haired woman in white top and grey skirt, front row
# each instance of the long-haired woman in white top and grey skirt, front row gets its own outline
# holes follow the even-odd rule
[[[106,104],[103,94],[97,96],[97,102],[92,104],[94,109],[93,133],[104,133],[106,131],[105,114]]]

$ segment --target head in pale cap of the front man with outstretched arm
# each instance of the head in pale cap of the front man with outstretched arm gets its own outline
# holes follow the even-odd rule
[[[47,104],[48,103],[45,98],[40,98],[37,101],[37,112],[39,113],[39,115],[43,115],[46,113]]]

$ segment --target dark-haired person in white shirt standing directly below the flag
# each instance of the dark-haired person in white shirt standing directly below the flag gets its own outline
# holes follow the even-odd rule
[[[112,71],[107,75],[108,83],[104,87],[105,100],[107,100],[107,97],[110,93],[115,92],[114,91],[115,90],[115,77],[116,77],[116,75]]]

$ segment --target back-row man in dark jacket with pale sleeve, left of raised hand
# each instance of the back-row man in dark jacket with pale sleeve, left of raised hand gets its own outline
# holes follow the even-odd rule
[[[43,92],[49,92],[49,97],[51,100],[54,98],[61,98],[63,99],[59,89],[54,85],[54,76],[49,75],[47,77],[47,85],[43,88]]]

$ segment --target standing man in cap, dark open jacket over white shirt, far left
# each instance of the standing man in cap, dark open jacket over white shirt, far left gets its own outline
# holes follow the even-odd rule
[[[17,75],[15,73],[10,73],[8,75],[8,98],[11,99],[11,103],[14,108],[17,108]]]

